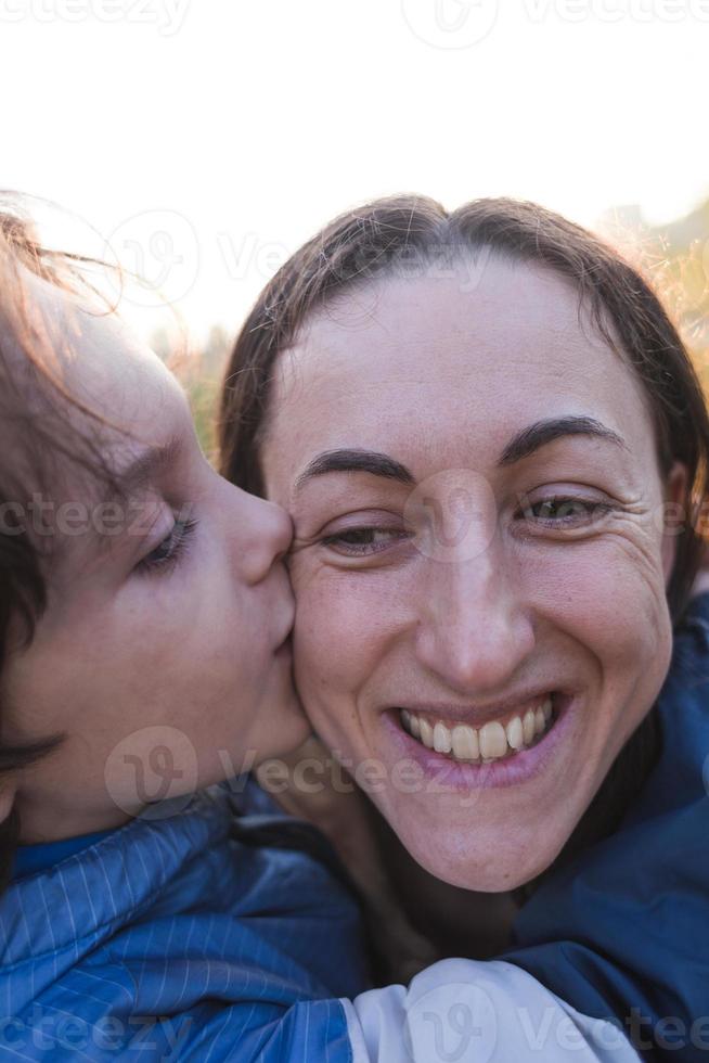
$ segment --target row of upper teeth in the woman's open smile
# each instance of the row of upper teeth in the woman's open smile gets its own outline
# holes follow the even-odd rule
[[[531,745],[552,721],[552,699],[545,697],[526,713],[513,716],[506,723],[493,720],[482,727],[467,723],[444,723],[418,713],[401,709],[401,721],[413,738],[426,748],[444,753],[455,760],[499,760]]]

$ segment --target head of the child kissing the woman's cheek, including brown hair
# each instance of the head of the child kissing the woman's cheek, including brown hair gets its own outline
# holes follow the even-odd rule
[[[307,733],[276,652],[289,521],[211,469],[175,379],[95,302],[69,259],[2,218],[5,857]]]

